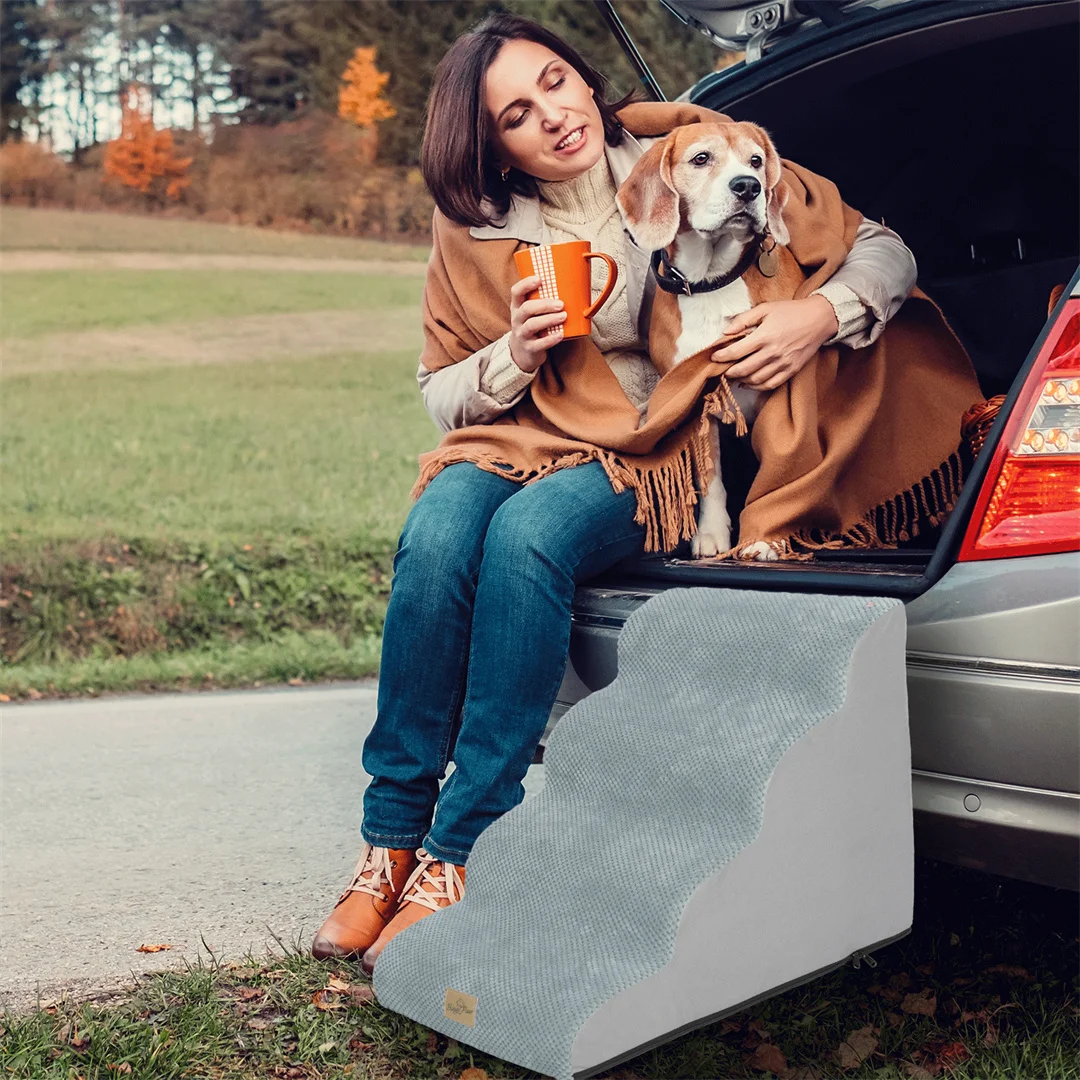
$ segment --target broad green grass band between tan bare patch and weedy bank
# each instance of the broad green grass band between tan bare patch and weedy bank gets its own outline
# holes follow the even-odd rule
[[[17,537],[396,540],[437,442],[416,355],[3,382],[0,518]]]

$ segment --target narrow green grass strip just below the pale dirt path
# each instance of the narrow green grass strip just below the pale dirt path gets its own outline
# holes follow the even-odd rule
[[[226,315],[416,308],[420,278],[224,270],[41,270],[0,276],[0,338]]]

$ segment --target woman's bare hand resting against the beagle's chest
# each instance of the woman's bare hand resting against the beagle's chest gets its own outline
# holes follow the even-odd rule
[[[750,333],[721,346],[713,360],[739,361],[725,373],[729,379],[752,390],[775,390],[800,372],[837,328],[833,305],[820,294],[769,300],[729,320],[725,335]]]

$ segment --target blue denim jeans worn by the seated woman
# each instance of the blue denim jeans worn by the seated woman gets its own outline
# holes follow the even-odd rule
[[[597,461],[528,486],[459,462],[429,484],[394,556],[363,839],[463,866],[522,801],[566,669],[575,585],[644,550],[635,509]]]

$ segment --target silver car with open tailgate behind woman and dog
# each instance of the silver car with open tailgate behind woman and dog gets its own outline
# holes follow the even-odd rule
[[[665,589],[900,597],[916,851],[1078,889],[1080,5],[664,5],[745,52],[680,98],[761,124],[783,157],[895,229],[984,394],[1004,400],[951,514],[917,540],[808,562],[699,565],[678,550],[581,585],[537,760],[566,710],[615,677],[625,619]],[[600,6],[656,95],[618,5]]]

